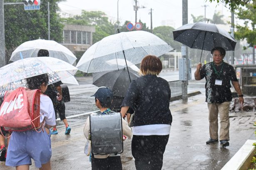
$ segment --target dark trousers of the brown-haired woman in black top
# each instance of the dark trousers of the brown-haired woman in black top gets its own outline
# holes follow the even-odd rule
[[[169,135],[132,137],[132,155],[137,170],[161,170]]]

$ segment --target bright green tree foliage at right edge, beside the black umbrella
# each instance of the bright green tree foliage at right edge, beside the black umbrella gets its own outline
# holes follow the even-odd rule
[[[246,39],[249,46],[254,46],[256,44],[256,8],[253,4],[247,4],[245,8],[240,7],[236,15],[238,19],[244,21],[244,26],[236,25],[236,39]]]

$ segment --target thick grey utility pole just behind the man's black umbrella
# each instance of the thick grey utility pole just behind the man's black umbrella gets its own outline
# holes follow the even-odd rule
[[[188,0],[182,0],[182,25],[188,23]],[[186,58],[186,80],[183,80],[182,85],[182,100],[188,100],[188,83],[189,83],[189,59],[187,55],[187,47],[181,46],[181,55]]]

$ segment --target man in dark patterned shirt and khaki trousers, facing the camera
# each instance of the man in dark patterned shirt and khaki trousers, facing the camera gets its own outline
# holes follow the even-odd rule
[[[244,103],[240,85],[236,78],[236,71],[233,66],[225,63],[223,58],[226,51],[222,47],[215,47],[211,50],[213,62],[201,63],[196,66],[195,79],[206,79],[206,102],[209,109],[209,133],[210,138],[206,144],[218,143],[220,146],[229,146],[229,104],[232,100],[232,82],[239,95],[239,102]],[[220,116],[220,135],[218,135],[218,114]]]

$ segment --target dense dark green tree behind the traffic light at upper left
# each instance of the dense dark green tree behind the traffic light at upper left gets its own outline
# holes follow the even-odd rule
[[[62,40],[62,28],[59,15],[57,15],[60,0],[50,2],[50,37],[52,40]],[[8,2],[20,2],[8,0]],[[25,41],[34,39],[48,39],[47,1],[41,1],[40,10],[25,11],[23,5],[5,5],[5,48],[6,58],[9,62],[10,54]]]

